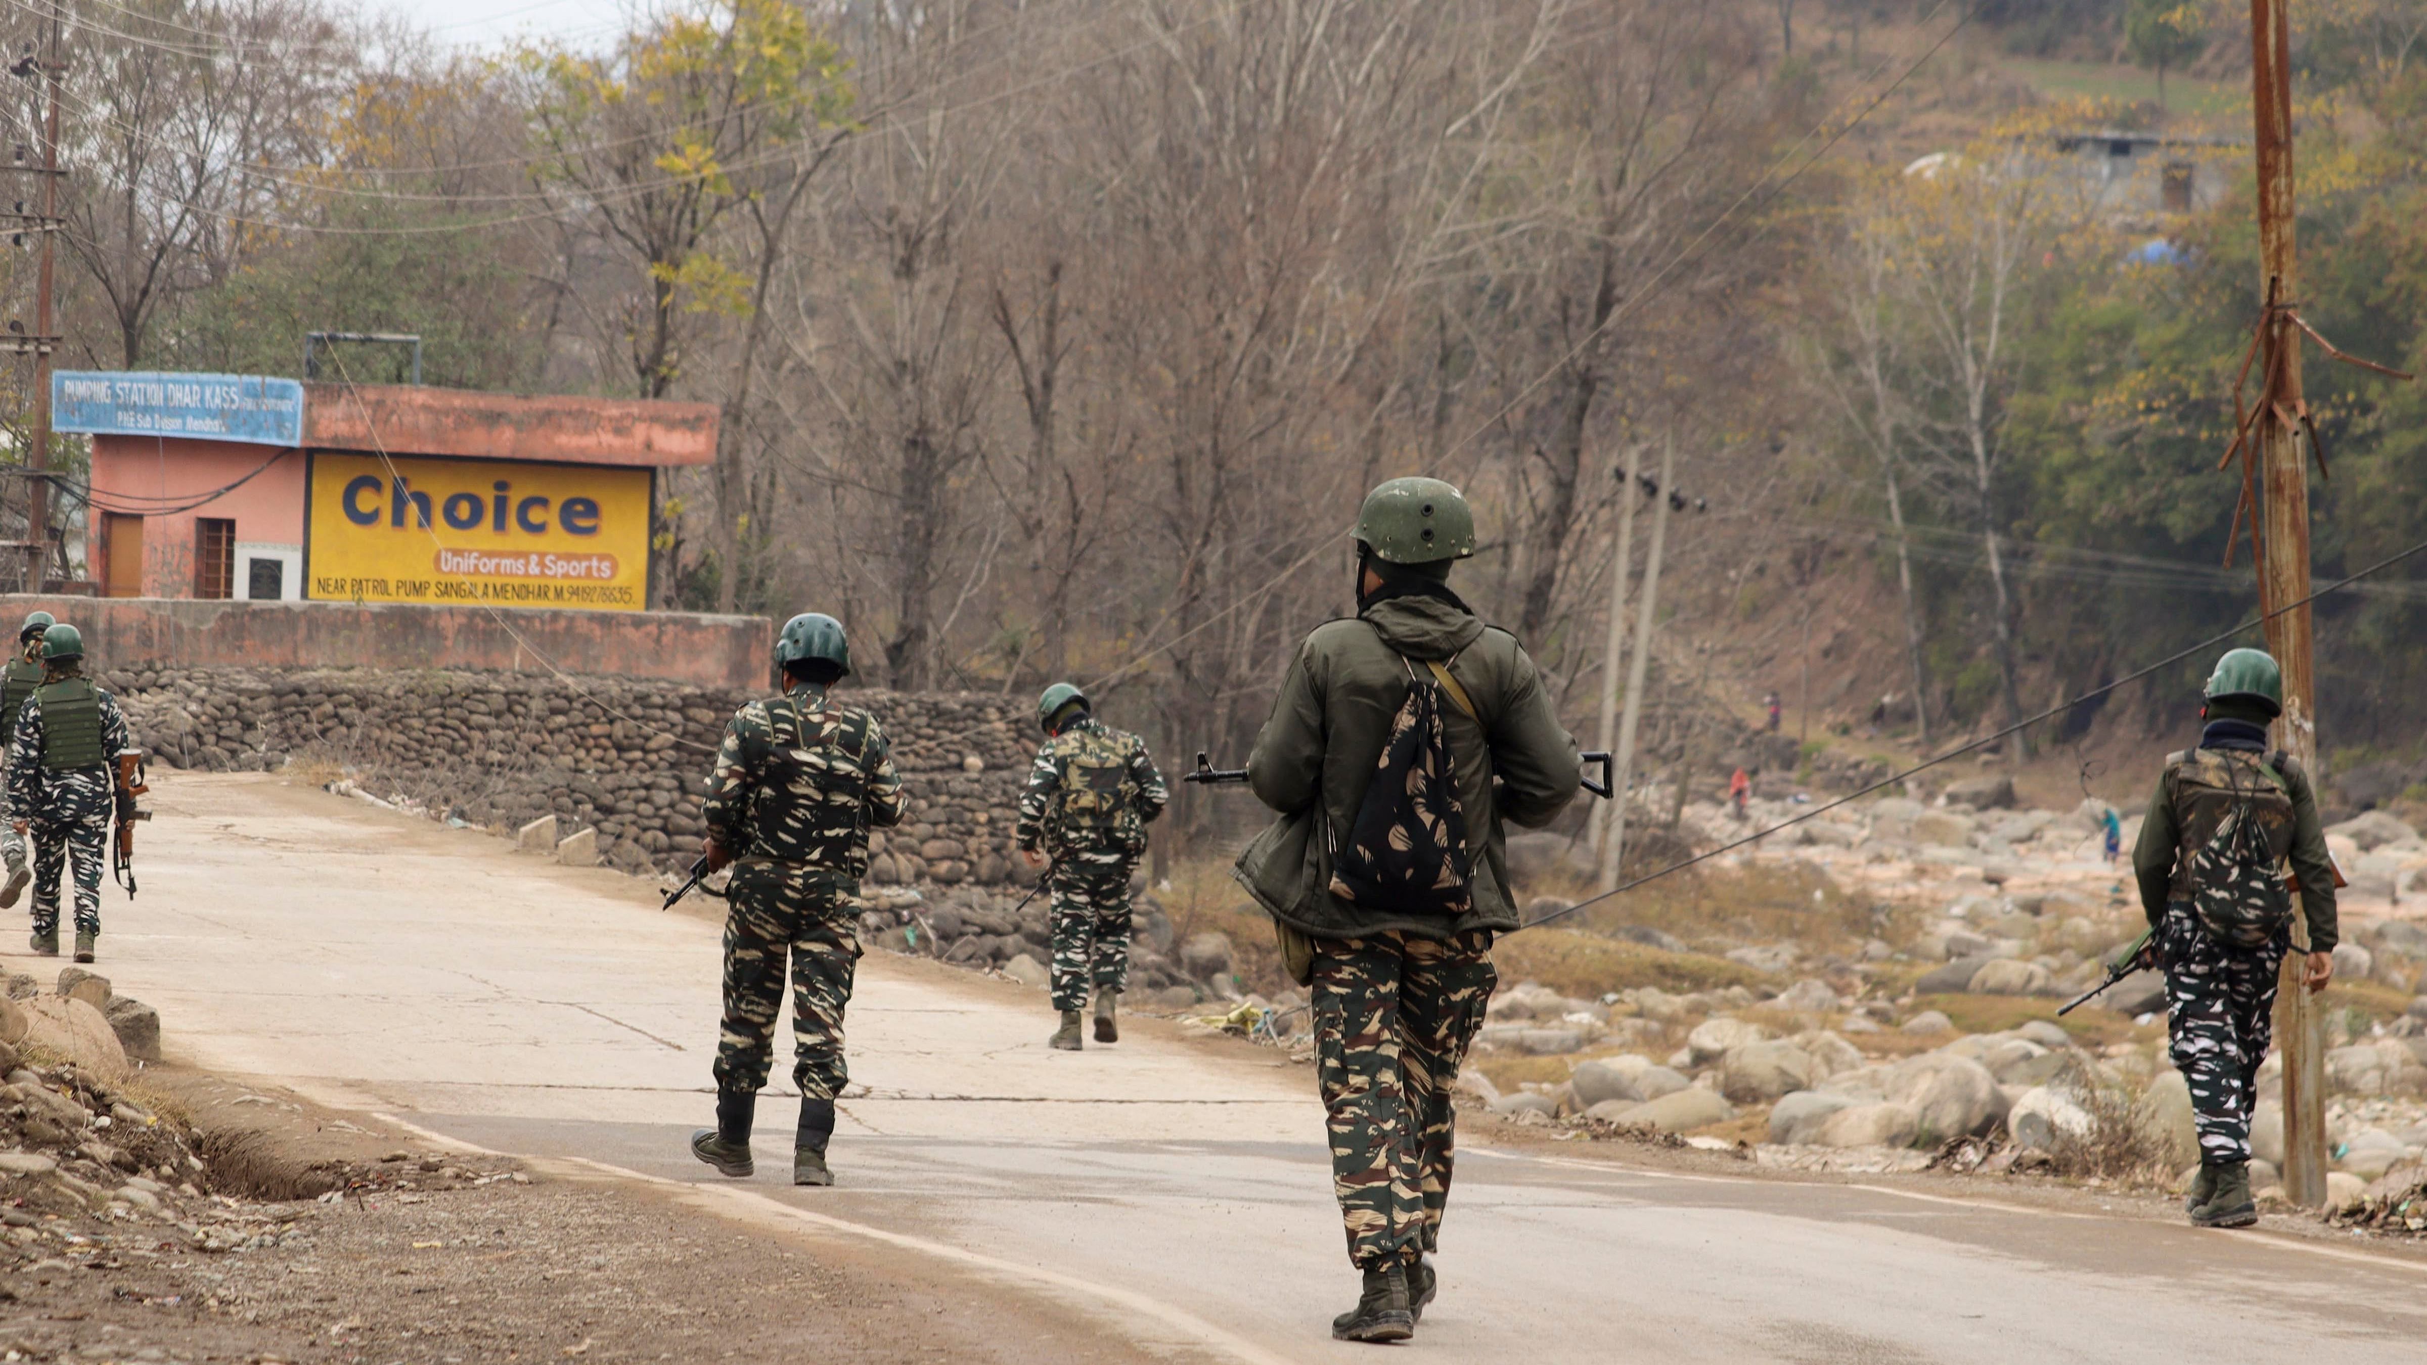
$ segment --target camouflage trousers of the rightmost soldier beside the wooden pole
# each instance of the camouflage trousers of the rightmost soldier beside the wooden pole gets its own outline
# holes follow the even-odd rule
[[[2250,1161],[2250,1112],[2260,1061],[2274,1037],[2274,993],[2291,933],[2264,947],[2228,947],[2175,901],[2165,942],[2167,1040],[2192,1088],[2192,1122],[2206,1163]]]

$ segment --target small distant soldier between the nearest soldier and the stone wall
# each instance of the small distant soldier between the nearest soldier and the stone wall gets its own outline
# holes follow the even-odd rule
[[[1146,826],[1170,804],[1146,741],[1095,719],[1087,695],[1056,682],[1036,700],[1046,731],[1029,787],[1019,794],[1019,853],[1051,857],[1053,1047],[1078,1052],[1078,1020],[1095,984],[1095,1040],[1119,1042],[1116,1001],[1129,989],[1129,874],[1146,853]]]

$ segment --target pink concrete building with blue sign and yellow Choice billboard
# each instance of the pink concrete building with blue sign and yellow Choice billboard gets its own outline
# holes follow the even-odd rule
[[[641,610],[655,471],[716,408],[63,372],[107,597]]]

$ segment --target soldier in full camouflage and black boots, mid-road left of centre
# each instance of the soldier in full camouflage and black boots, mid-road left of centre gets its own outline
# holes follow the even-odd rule
[[[842,624],[815,612],[784,622],[774,644],[784,695],[733,714],[701,802],[709,870],[726,884],[726,1018],[716,1040],[716,1127],[692,1154],[726,1176],[750,1176],[750,1120],[774,1064],[774,1018],[791,957],[791,1078],[801,1088],[791,1183],[832,1185],[825,1144],[842,1061],[842,1008],[852,998],[852,930],[869,828],[903,819],[903,780],[876,717],[828,690],[852,670]]]

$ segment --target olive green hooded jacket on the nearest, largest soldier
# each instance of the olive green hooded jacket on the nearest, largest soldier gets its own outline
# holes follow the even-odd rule
[[[1386,644],[1388,641],[1388,644]],[[1393,916],[1330,894],[1332,833],[1357,821],[1391,719],[1408,700],[1408,665],[1446,661],[1476,717],[1442,697],[1459,806],[1473,860],[1473,908],[1456,921]],[[1439,597],[1391,597],[1364,617],[1323,622],[1298,646],[1272,719],[1247,755],[1247,785],[1281,814],[1233,872],[1274,918],[1311,938],[1408,930],[1449,938],[1517,928],[1502,821],[1544,826],[1575,799],[1582,763],[1541,675],[1510,631]]]

